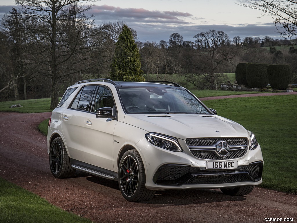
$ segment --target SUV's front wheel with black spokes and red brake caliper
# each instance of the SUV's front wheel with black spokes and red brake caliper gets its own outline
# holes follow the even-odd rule
[[[119,165],[119,187],[127,201],[150,200],[155,191],[145,186],[146,175],[143,161],[136,150],[128,150],[121,158]]]

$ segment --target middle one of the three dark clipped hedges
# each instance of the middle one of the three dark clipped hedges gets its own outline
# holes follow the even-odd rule
[[[267,76],[268,64],[249,64],[247,66],[247,83],[249,87],[263,88],[269,83]]]

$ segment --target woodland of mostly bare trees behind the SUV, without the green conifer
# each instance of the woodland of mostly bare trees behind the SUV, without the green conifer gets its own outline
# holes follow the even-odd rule
[[[119,34],[124,21],[95,24],[86,11],[92,4],[80,0],[18,0],[2,16],[0,30],[0,101],[52,98],[77,81],[110,78]],[[85,1],[84,1],[85,2]],[[89,1],[92,3],[93,1]],[[174,81],[189,89],[219,89],[235,73],[238,63],[287,64],[297,84],[295,40],[269,36],[233,37],[223,31],[197,33],[184,41],[173,33],[159,42],[137,41],[146,81]]]

